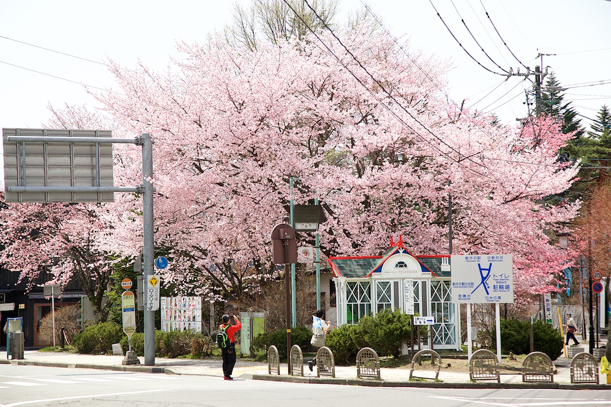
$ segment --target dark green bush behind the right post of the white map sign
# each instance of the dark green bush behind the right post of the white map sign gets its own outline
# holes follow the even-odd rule
[[[562,336],[553,326],[536,321],[533,323],[533,350],[543,352],[555,360],[562,354]],[[514,319],[500,320],[500,345],[503,352],[526,355],[530,350],[529,322]],[[496,328],[492,334],[492,348],[496,348]]]

